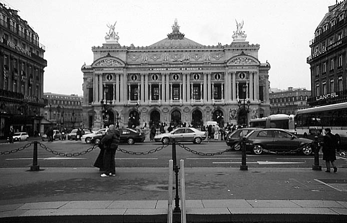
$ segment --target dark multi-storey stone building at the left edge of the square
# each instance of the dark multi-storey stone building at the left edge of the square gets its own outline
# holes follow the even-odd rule
[[[29,136],[40,130],[47,61],[38,40],[17,10],[0,3],[0,139],[7,138],[10,129]]]

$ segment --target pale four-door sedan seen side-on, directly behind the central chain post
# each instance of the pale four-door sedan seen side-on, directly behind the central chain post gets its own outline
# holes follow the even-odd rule
[[[154,141],[168,144],[172,139],[175,141],[190,141],[200,144],[206,139],[206,132],[197,130],[195,128],[183,127],[172,130],[169,133],[158,134],[154,136]]]

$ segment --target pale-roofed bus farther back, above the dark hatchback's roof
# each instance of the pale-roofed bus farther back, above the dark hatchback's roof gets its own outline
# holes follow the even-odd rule
[[[297,134],[295,130],[294,115],[276,114],[264,118],[250,120],[250,127],[253,128],[277,128],[284,129],[290,133]]]

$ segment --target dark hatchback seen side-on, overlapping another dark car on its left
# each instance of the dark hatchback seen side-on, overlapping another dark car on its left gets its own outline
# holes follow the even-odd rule
[[[288,152],[303,147],[299,152],[312,154],[312,140],[298,138],[283,129],[257,129],[246,136],[246,148],[253,154],[260,155],[268,151]]]

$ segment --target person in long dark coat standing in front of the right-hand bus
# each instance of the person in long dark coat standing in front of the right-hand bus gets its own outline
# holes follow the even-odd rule
[[[335,166],[336,161],[336,137],[332,134],[332,130],[330,128],[324,129],[324,133],[326,134],[323,138],[323,160],[326,161],[326,172],[330,172],[330,163],[334,168],[334,173],[338,172],[338,168]]]

